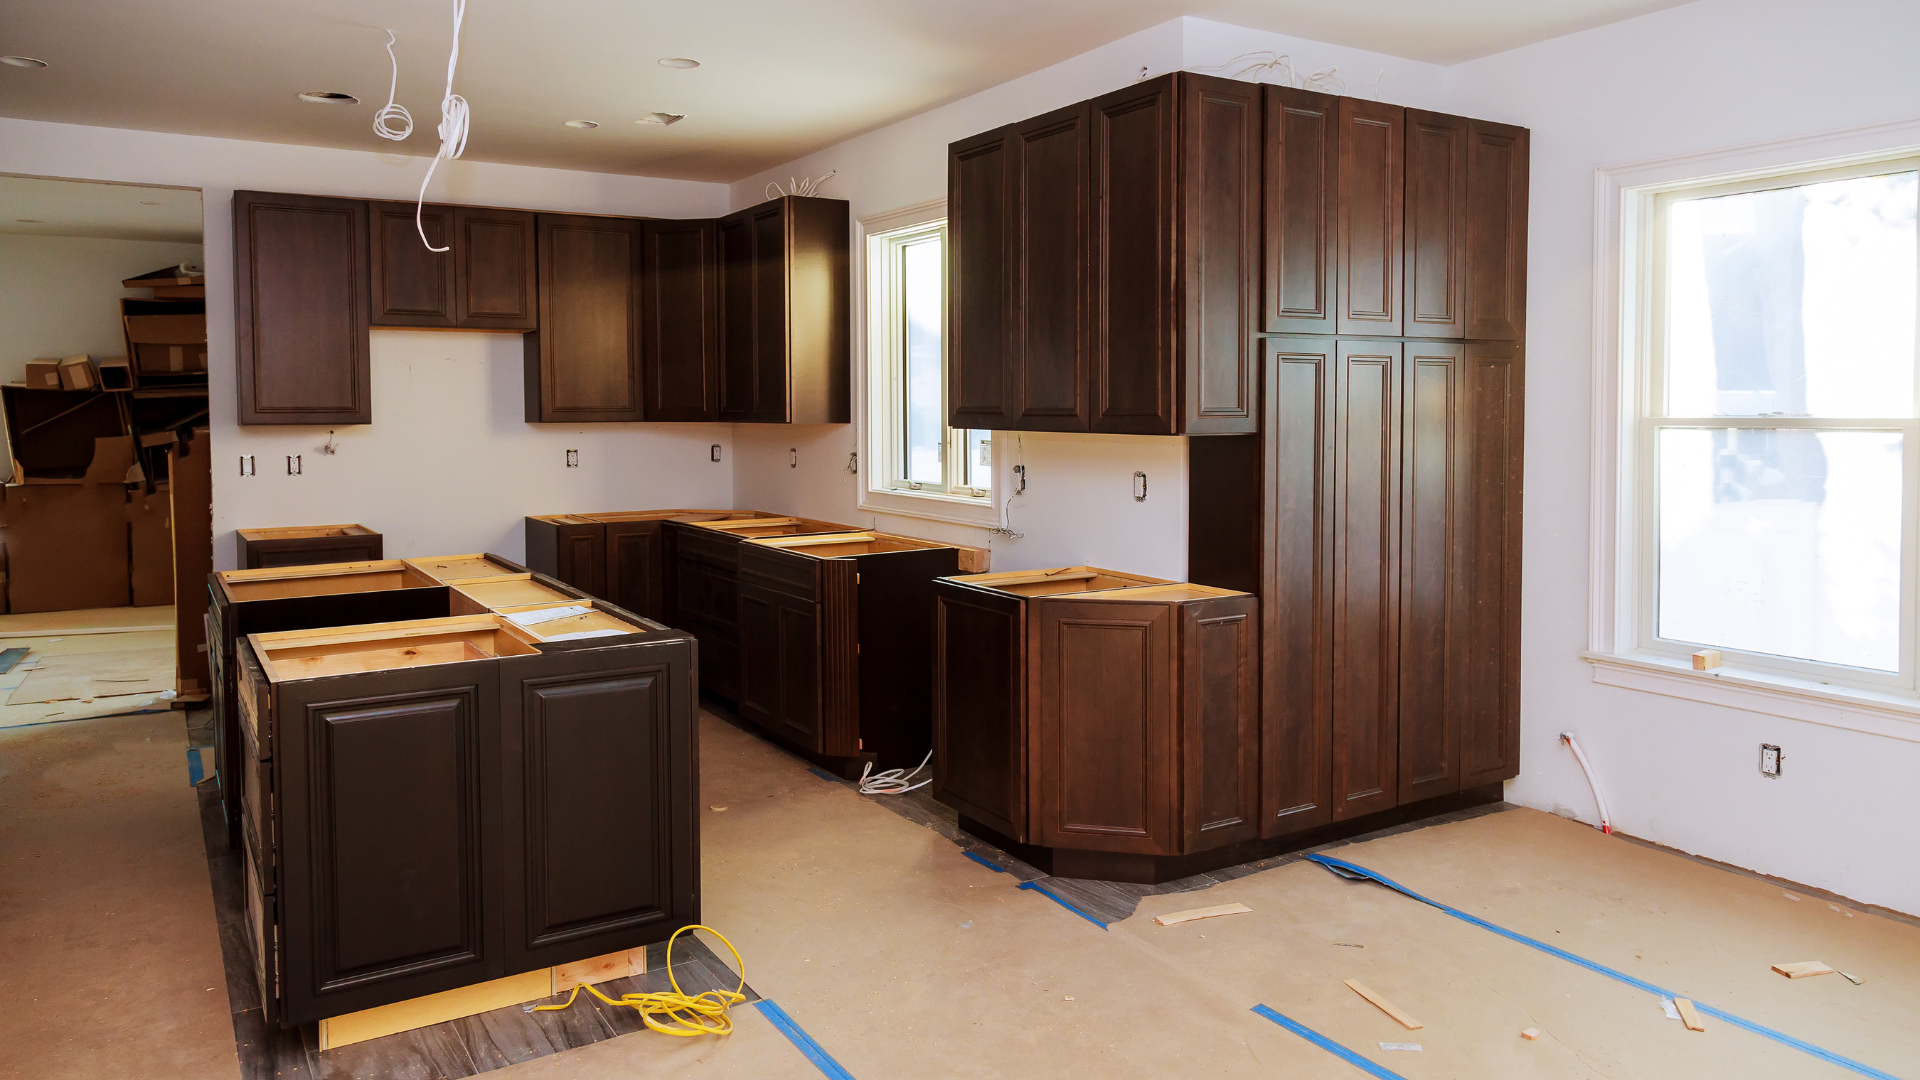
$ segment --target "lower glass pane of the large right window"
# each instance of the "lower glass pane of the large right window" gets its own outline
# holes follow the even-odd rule
[[[1659,636],[1899,671],[1899,432],[1661,429],[1657,454]]]

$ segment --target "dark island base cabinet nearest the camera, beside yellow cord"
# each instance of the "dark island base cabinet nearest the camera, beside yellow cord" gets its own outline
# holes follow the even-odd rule
[[[271,1022],[634,949],[699,920],[684,634],[566,601],[255,634],[240,667],[248,744],[276,748],[252,759],[246,805]]]

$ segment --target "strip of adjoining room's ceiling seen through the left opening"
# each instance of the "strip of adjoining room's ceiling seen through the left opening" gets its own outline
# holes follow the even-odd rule
[[[0,173],[0,233],[198,244],[200,188]]]

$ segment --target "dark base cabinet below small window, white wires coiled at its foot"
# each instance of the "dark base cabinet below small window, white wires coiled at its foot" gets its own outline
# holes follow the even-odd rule
[[[739,544],[739,715],[795,749],[914,769],[933,746],[933,578],[960,548],[883,532]]]

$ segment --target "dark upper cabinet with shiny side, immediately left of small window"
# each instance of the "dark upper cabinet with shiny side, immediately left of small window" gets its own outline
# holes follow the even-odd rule
[[[847,204],[783,196],[718,231],[720,419],[851,423]]]

